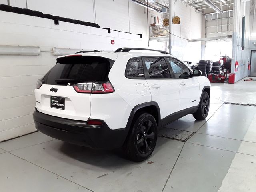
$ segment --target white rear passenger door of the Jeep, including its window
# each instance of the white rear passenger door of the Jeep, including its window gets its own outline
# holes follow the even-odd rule
[[[164,57],[144,57],[146,64],[146,81],[148,83],[152,101],[160,108],[161,119],[180,111],[180,86]],[[164,121],[165,122],[165,121]]]

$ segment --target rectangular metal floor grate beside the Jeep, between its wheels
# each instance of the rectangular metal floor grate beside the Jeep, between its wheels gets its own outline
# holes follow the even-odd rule
[[[160,137],[184,141],[184,142],[187,141],[193,134],[194,132],[172,129],[167,127],[163,127],[158,130],[158,136]]]

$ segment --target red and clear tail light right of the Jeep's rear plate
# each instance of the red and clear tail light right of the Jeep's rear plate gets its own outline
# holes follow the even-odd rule
[[[78,83],[73,85],[78,93],[113,93],[114,87],[108,82],[104,83]]]

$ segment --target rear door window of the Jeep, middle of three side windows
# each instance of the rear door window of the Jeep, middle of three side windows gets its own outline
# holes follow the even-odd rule
[[[150,78],[171,78],[170,70],[163,57],[144,58]]]

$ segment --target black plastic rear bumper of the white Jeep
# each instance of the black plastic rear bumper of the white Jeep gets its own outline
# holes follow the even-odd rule
[[[50,116],[37,110],[33,113],[36,129],[65,142],[95,149],[119,148],[124,143],[128,128],[111,130],[103,125],[87,125],[85,121]]]

